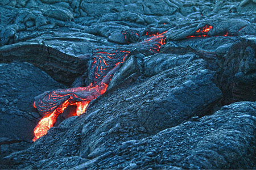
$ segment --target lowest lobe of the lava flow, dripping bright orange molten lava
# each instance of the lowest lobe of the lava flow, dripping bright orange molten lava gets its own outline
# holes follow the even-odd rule
[[[76,105],[76,116],[86,111],[89,102],[105,93],[107,84],[101,82],[99,85],[88,87],[75,87],[65,90],[47,91],[36,96],[35,107],[44,115],[34,129],[35,137],[32,141],[47,133],[57,119],[69,105]]]

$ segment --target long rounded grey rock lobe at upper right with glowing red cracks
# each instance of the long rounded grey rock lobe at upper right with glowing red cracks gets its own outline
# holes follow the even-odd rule
[[[209,26],[207,31],[199,31],[206,25]],[[211,36],[243,36],[255,35],[255,25],[247,20],[222,18],[200,20],[193,23],[183,23],[171,28],[166,33],[167,40],[182,40],[192,37],[211,37]]]

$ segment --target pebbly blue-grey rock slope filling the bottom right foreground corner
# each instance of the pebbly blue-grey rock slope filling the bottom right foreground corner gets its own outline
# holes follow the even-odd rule
[[[255,169],[255,108],[255,102],[227,105],[197,121],[122,142],[73,169]]]

